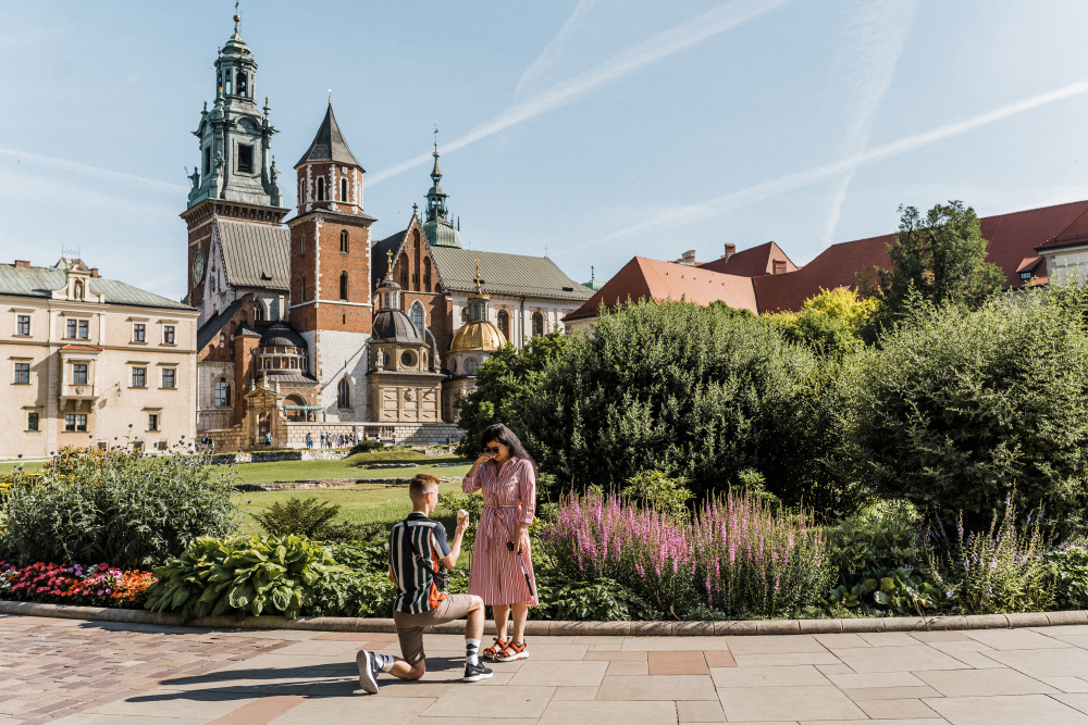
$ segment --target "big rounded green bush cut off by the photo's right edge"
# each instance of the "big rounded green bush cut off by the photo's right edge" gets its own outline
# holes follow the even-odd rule
[[[985,530],[1006,497],[1077,530],[1088,505],[1088,334],[1040,293],[929,309],[852,359],[861,478]]]

